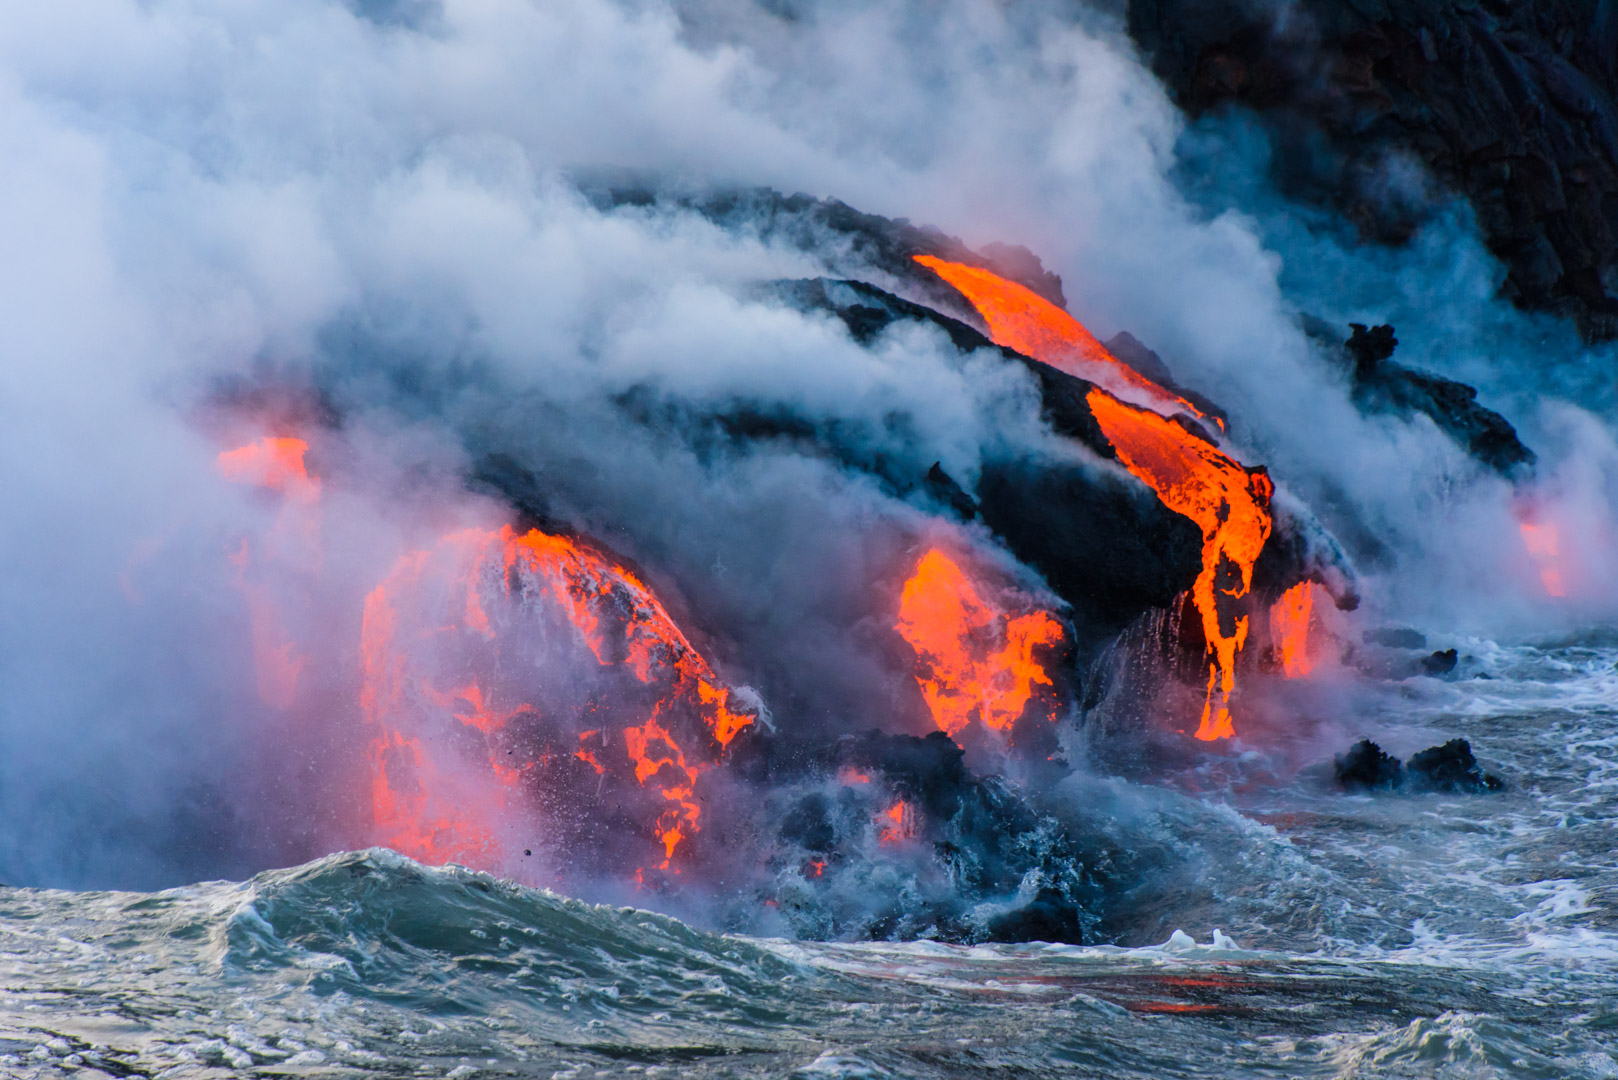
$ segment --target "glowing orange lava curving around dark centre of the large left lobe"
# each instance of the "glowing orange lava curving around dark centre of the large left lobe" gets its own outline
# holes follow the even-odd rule
[[[450,588],[455,620],[442,625],[438,610],[421,597],[430,585]],[[456,593],[464,589],[464,599]],[[508,795],[479,779],[477,767],[451,759],[438,738],[440,729],[422,719],[422,701],[440,714],[464,703],[453,719],[493,735],[531,704],[495,709],[474,680],[469,687],[442,695],[427,677],[413,669],[413,649],[429,649],[440,638],[455,635],[495,641],[498,631],[490,604],[505,602],[516,614],[545,597],[566,615],[579,640],[604,667],[621,667],[639,683],[652,687],[657,698],[650,716],[623,727],[623,755],[616,740],[600,729],[578,732],[581,745],[566,756],[594,767],[604,780],[629,779],[655,790],[667,803],[654,826],[667,870],[680,844],[699,831],[701,806],[693,792],[697,777],[717,759],[712,743],[723,750],[736,733],[754,722],[754,714],[736,708],[707,661],[691,648],[652,591],[626,567],[565,536],[532,529],[518,534],[510,526],[498,531],[463,529],[440,541],[435,551],[417,551],[400,559],[392,573],[366,597],[361,630],[364,683],[361,711],[377,729],[372,740],[372,814],[382,842],[424,861],[485,863],[495,853],[493,829],[508,805]],[[421,606],[427,604],[427,612]],[[503,612],[510,614],[510,612]],[[426,617],[424,617],[426,615]],[[502,619],[502,625],[506,620]],[[699,717],[701,735],[680,735],[689,725],[668,719],[673,712]],[[432,746],[424,745],[424,737]],[[571,738],[571,737],[570,737]],[[455,742],[455,740],[448,740]],[[438,755],[445,755],[440,758]],[[515,789],[524,767],[511,767],[493,742],[482,769],[492,771],[506,789]]]

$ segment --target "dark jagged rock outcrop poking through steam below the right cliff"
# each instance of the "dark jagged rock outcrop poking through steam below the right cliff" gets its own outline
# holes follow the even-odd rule
[[[1353,334],[1343,350],[1353,364],[1354,403],[1361,410],[1396,416],[1422,413],[1502,476],[1514,476],[1534,465],[1534,452],[1523,445],[1505,416],[1477,403],[1477,390],[1388,363],[1400,343],[1393,327],[1367,329],[1354,322],[1349,330]]]

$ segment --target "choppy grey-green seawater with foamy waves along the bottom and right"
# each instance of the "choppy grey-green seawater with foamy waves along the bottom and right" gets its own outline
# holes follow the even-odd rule
[[[1158,944],[725,936],[382,850],[0,889],[0,1075],[1618,1077],[1618,648],[1461,646],[1356,735],[1469,738],[1502,795],[1102,780],[1191,868]]]

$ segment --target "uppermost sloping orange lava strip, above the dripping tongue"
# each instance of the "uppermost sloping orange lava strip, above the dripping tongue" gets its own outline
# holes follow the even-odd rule
[[[972,303],[989,324],[989,337],[995,345],[1014,348],[1024,356],[1032,356],[1069,376],[1100,382],[1126,397],[1144,397],[1154,408],[1170,413],[1186,411],[1207,419],[1196,405],[1120,361],[1084,329],[1082,322],[1039,293],[976,266],[947,262],[925,254],[914,257]]]

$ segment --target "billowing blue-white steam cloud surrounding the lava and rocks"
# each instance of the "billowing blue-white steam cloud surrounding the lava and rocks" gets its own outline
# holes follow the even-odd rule
[[[976,248],[1026,244],[1099,337],[1129,330],[1228,411],[1278,505],[1306,504],[1343,539],[1379,619],[1558,625],[1569,609],[1544,596],[1547,557],[1574,610],[1610,609],[1618,568],[1576,538],[1610,528],[1618,449],[1574,403],[1535,411],[1534,390],[1557,384],[1527,363],[1526,330],[1511,355],[1458,358],[1434,343],[1438,314],[1400,327],[1421,364],[1502,395],[1489,403],[1540,453],[1539,481],[1514,489],[1424,418],[1356,408],[1302,319],[1398,322],[1464,300],[1497,325],[1511,316],[1479,283],[1487,264],[1438,279],[1417,248],[1388,274],[1385,256],[1278,233],[1262,191],[1214,210],[1188,199],[1184,123],[1107,11],[84,0],[0,16],[0,57],[8,881],[172,884],[379,839],[367,597],[458,531],[597,544],[644,578],[715,685],[757,695],[756,729],[867,740],[790,767],[759,751],[749,776],[780,776],[793,798],[885,759],[872,729],[930,730],[893,633],[930,546],[1008,612],[1063,610],[922,478],[938,463],[976,492],[987,465],[1021,457],[1123,470],[1053,434],[1039,379],[995,350],[925,322],[862,342],[772,285],[904,293],[846,233],[786,236],[693,193],[806,191]],[[1257,175],[1256,154],[1235,157]],[[602,194],[626,185],[646,198]],[[1327,303],[1294,259],[1353,293]],[[262,461],[244,458],[244,483],[222,468],[220,453],[294,436],[317,497]],[[1560,526],[1540,562],[1524,515]],[[557,661],[558,685],[592,662]],[[610,711],[628,691],[557,693]],[[900,772],[955,777],[951,761]],[[951,806],[1021,821],[1000,789],[961,790]],[[825,798],[806,818],[819,803],[780,797],[803,866],[822,826],[870,818],[866,797]],[[927,813],[890,801],[872,845]],[[746,844],[743,824],[712,821],[705,836]],[[1000,881],[1061,847],[1027,821],[1013,832],[1026,850],[972,873]],[[604,866],[636,895],[626,865]],[[555,865],[500,868],[539,881]],[[875,887],[862,881],[840,886],[851,908]],[[1057,887],[1039,881],[1023,876]]]

